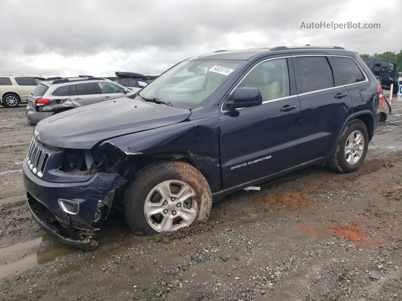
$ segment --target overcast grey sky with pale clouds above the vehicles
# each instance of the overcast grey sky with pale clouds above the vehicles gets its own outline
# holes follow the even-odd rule
[[[402,49],[402,1],[0,0],[0,73],[158,75],[220,49],[336,45]],[[381,29],[301,29],[301,22],[380,23]]]

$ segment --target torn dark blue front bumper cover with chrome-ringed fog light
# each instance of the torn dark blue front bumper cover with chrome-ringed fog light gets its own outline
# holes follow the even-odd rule
[[[60,173],[63,174],[63,173]],[[71,177],[71,175],[69,175]],[[69,228],[93,231],[94,217],[99,200],[126,180],[117,174],[95,174],[86,181],[80,181],[80,175],[74,176],[73,183],[52,183],[43,181],[34,175],[28,167],[27,159],[23,163],[23,181],[27,189],[28,203],[33,219],[53,238],[64,244],[90,250],[97,242],[81,237],[75,240]],[[59,199],[78,203],[78,212],[69,214],[63,211]]]

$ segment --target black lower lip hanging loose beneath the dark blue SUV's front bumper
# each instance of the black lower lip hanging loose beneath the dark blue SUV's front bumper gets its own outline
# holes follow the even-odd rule
[[[44,220],[41,220],[41,218],[39,218],[39,216],[45,216],[45,215],[47,215],[47,218],[49,218],[50,212],[47,210],[47,208],[44,205],[40,204],[39,202],[38,202],[39,204],[36,203],[34,205],[31,205],[29,200],[27,201],[27,203],[28,203],[29,210],[31,211],[32,218],[35,221],[35,223],[37,223],[38,226],[41,227],[41,229],[43,231],[45,231],[47,234],[49,234],[49,236],[53,237],[55,240],[58,240],[62,244],[66,244],[68,246],[72,246],[74,248],[87,250],[87,251],[93,250],[94,248],[96,248],[98,246],[98,242],[96,240],[92,239],[92,236],[90,238],[84,238],[83,240],[74,240],[74,239],[66,238],[66,237],[62,236],[61,234],[59,234],[60,232],[57,230],[57,228],[55,226],[53,226],[52,224],[49,224],[45,221],[46,218],[43,218]],[[42,208],[42,206],[43,206],[43,208]]]

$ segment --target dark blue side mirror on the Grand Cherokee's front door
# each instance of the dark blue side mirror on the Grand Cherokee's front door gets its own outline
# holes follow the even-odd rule
[[[226,106],[230,110],[259,106],[263,103],[260,89],[257,88],[237,88],[234,90]]]

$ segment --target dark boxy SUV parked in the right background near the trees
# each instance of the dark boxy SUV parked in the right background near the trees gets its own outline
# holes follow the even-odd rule
[[[394,84],[394,93],[398,90],[399,73],[396,71],[397,66],[395,62],[387,61],[385,59],[377,59],[376,57],[369,57],[363,59],[366,65],[373,72],[378,83],[382,87],[390,88]]]

